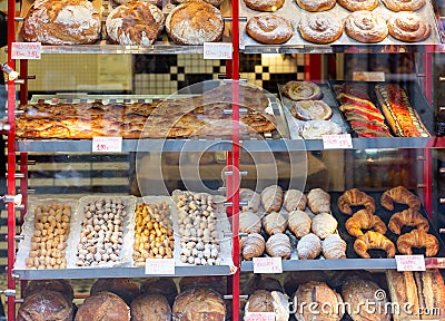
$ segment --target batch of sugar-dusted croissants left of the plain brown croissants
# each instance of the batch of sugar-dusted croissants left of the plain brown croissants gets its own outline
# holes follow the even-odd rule
[[[241,189],[240,200],[248,201],[239,214],[244,260],[264,253],[286,260],[293,252],[300,260],[320,254],[325,259],[346,257],[346,242],[336,233],[338,223],[330,214],[330,195],[322,188],[310,189],[306,196],[298,189],[284,193],[280,186],[271,185],[261,193]],[[291,245],[295,239],[296,247]]]

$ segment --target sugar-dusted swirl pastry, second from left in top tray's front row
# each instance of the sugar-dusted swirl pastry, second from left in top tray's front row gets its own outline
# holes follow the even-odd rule
[[[304,14],[299,20],[298,30],[303,39],[324,45],[337,40],[343,33],[343,26],[333,13],[318,12]]]

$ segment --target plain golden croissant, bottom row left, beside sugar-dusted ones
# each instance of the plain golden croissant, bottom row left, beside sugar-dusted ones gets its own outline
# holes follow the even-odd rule
[[[392,259],[396,255],[396,246],[394,243],[382,233],[368,231],[358,236],[354,242],[354,251],[363,259],[370,259],[368,250],[380,249],[386,252],[386,256]]]

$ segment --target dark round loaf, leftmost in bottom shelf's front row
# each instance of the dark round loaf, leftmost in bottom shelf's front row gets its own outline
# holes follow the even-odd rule
[[[73,304],[56,291],[42,290],[30,294],[20,305],[17,321],[71,321]]]

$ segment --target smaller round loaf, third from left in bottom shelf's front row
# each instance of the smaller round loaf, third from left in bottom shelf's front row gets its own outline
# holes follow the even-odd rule
[[[171,309],[161,294],[142,294],[130,305],[131,321],[170,321]]]

